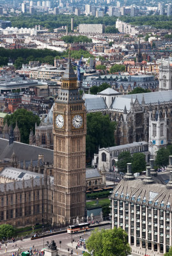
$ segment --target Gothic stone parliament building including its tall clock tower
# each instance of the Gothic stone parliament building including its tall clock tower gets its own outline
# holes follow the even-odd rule
[[[1,138],[0,224],[67,225],[84,220],[86,109],[70,56],[61,80],[53,111],[54,153],[15,142],[12,132],[9,140]]]

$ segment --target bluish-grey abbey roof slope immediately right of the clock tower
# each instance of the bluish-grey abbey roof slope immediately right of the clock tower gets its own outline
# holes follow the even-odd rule
[[[91,98],[85,100],[86,110],[97,110],[97,109],[107,109],[106,103],[103,98]]]

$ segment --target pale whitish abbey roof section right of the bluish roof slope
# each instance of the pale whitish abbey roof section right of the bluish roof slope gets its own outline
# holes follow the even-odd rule
[[[133,102],[135,99],[133,100]],[[111,104],[111,109],[121,110],[123,112],[125,106],[127,111],[130,111],[130,103],[131,99],[123,98],[123,97],[115,97],[113,103]]]

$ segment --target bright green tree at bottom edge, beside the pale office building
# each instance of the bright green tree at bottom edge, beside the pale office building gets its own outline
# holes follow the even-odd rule
[[[95,229],[86,242],[90,254],[84,256],[127,256],[131,253],[128,235],[122,228]]]

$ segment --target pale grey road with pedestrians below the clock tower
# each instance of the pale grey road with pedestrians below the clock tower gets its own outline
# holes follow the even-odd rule
[[[100,229],[102,228],[111,228],[111,225],[105,225],[103,227],[99,227]],[[29,250],[30,248],[38,248],[39,250],[41,250],[42,248],[45,248],[45,243],[47,241],[51,242],[52,239],[54,239],[56,245],[58,246],[59,249],[59,255],[63,255],[63,256],[68,256],[68,248],[73,249],[73,255],[82,255],[82,248],[79,248],[78,250],[76,250],[76,245],[77,243],[74,242],[72,243],[72,239],[74,239],[75,241],[77,241],[80,236],[84,239],[88,239],[88,237],[90,237],[91,235],[91,230],[93,230],[93,228],[90,228],[90,230],[88,232],[81,232],[79,234],[68,234],[68,233],[64,233],[64,234],[58,234],[58,235],[54,235],[54,236],[50,236],[50,237],[45,237],[40,238],[40,239],[36,239],[31,241],[30,238],[24,239],[23,241],[17,241],[17,243],[8,243],[7,244],[7,252],[6,252],[6,246],[5,244],[2,244],[1,246],[1,250],[0,250],[0,255],[11,255],[12,252],[18,252],[19,247],[22,249],[22,252],[25,252],[27,250]],[[61,249],[60,249],[60,244],[59,241],[61,241]],[[17,244],[17,246],[15,247],[15,244]]]

